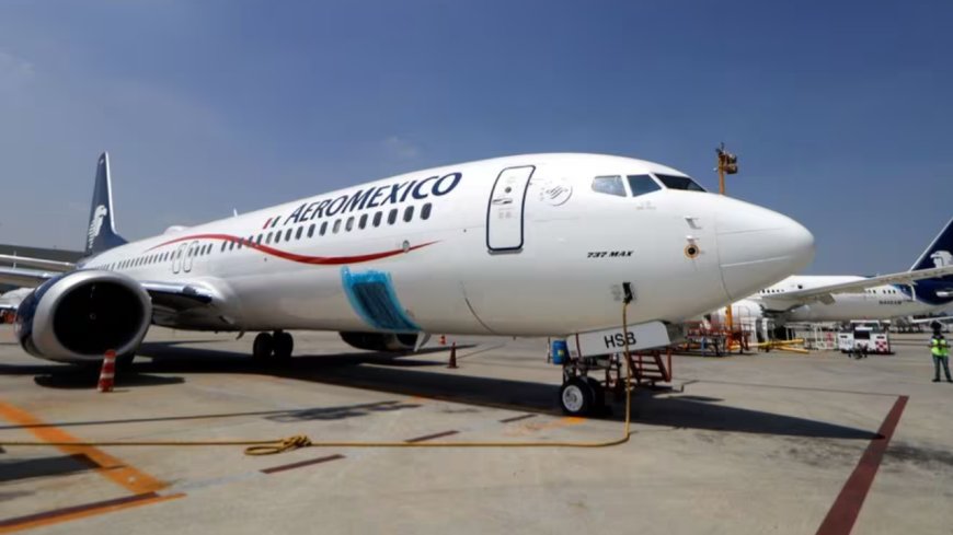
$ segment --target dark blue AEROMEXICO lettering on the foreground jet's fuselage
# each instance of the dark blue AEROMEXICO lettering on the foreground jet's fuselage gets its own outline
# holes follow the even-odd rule
[[[449,173],[444,176],[434,175],[423,181],[407,181],[386,186],[375,186],[367,189],[358,189],[352,194],[342,195],[333,199],[322,199],[314,202],[305,202],[285,218],[283,225],[300,223],[365,208],[377,208],[387,205],[399,205],[410,199],[426,199],[430,195],[441,197],[449,194],[460,184],[463,177],[461,173]]]

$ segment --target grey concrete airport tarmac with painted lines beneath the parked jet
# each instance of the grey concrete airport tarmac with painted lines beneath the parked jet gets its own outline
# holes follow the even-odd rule
[[[0,327],[0,441],[600,441],[622,405],[567,418],[538,339],[456,338],[391,358],[296,333],[154,328],[116,391],[26,356]],[[953,384],[927,334],[894,356],[676,357],[604,449],[33,447],[0,453],[0,533],[953,533]],[[430,342],[434,345],[434,341]],[[875,478],[872,476],[875,474]]]

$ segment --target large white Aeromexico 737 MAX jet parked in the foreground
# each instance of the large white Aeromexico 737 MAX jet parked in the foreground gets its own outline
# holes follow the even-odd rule
[[[370,350],[412,349],[426,333],[565,337],[618,329],[623,286],[633,326],[677,324],[814,255],[785,216],[619,156],[437,167],[133,243],[116,234],[110,184],[104,153],[73,270],[0,268],[0,282],[39,284],[16,309],[33,356],[130,360],[150,324],[260,332],[260,359],[290,357],[287,329]]]

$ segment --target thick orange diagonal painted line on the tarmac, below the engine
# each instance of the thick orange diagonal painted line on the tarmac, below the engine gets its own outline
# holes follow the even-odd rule
[[[30,412],[10,404],[0,403],[0,417],[9,420],[11,423],[26,427],[27,431],[44,442],[83,442],[68,432],[49,426]],[[67,455],[85,455],[97,465],[95,470],[100,475],[133,493],[154,492],[168,487],[165,482],[129,466],[96,447],[84,445],[58,445],[56,447]]]

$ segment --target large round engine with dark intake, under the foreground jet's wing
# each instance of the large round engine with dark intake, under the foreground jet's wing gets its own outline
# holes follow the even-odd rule
[[[50,279],[16,309],[15,333],[34,357],[94,362],[106,350],[135,353],[152,317],[152,301],[135,280],[81,270]]]

